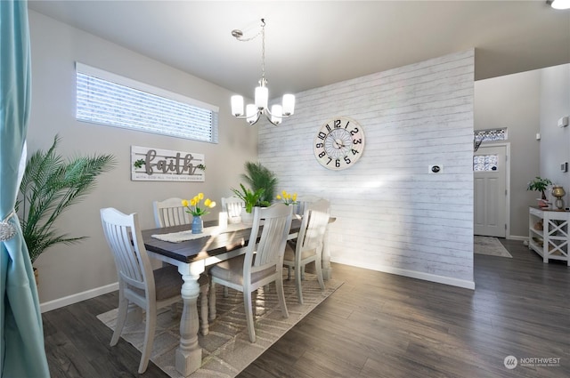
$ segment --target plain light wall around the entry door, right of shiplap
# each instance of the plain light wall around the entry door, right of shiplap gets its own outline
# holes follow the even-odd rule
[[[566,204],[570,201],[570,173],[560,171],[560,164],[570,161],[570,126],[557,125],[569,115],[570,64],[475,83],[475,129],[509,129],[509,237],[528,237],[528,206],[536,205],[538,194],[526,186],[535,176],[562,185]],[[547,195],[552,198],[550,191]]]

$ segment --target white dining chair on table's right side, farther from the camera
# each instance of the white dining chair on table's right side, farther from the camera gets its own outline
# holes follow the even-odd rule
[[[298,302],[303,304],[303,290],[301,280],[305,277],[305,266],[314,262],[317,280],[321,290],[324,290],[322,278],[322,245],[329,224],[330,203],[326,199],[320,199],[308,204],[303,213],[301,228],[296,241],[289,241],[285,246],[283,265],[288,267],[288,276],[291,277],[291,269],[295,270],[295,286],[297,289]]]

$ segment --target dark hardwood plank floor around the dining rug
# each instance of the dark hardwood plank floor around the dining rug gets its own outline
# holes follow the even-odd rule
[[[333,264],[345,284],[239,377],[569,377],[570,268],[501,242],[513,258],[476,254],[475,291]],[[139,375],[140,353],[110,348],[95,318],[116,306],[112,293],[43,314],[53,378]],[[152,363],[142,376],[167,377]]]

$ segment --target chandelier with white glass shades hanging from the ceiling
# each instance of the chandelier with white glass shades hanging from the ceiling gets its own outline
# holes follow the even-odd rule
[[[261,79],[259,86],[256,87],[255,103],[246,106],[246,112],[243,112],[243,97],[240,95],[232,96],[232,115],[234,117],[246,119],[249,125],[254,125],[262,114],[273,125],[281,124],[283,118],[293,115],[295,110],[295,96],[293,94],[284,94],[282,105],[275,104],[268,109],[269,89],[267,88],[267,79],[265,79],[265,20],[261,19],[261,30],[255,36],[244,38],[243,32],[238,29],[232,30],[232,36],[238,41],[247,42],[261,35]]]

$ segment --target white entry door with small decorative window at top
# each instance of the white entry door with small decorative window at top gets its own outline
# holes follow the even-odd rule
[[[507,231],[507,146],[480,146],[473,153],[474,234],[505,237]]]

